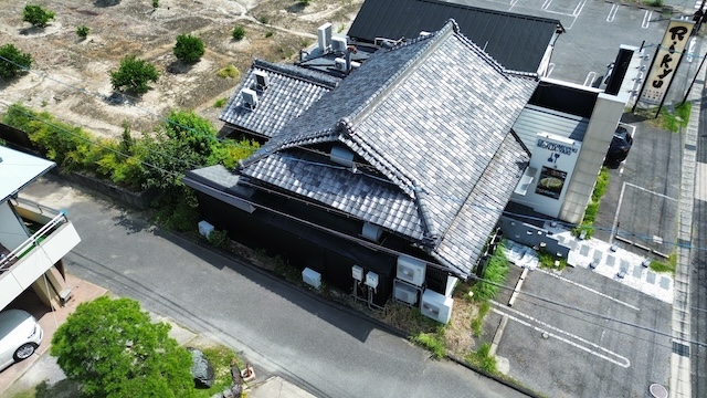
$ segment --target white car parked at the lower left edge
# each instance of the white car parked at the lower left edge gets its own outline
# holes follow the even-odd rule
[[[0,370],[29,358],[44,332],[34,316],[22,310],[0,312]]]

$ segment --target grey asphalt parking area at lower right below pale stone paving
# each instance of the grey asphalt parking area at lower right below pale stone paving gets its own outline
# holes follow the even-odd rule
[[[582,268],[531,271],[521,291],[494,311],[509,316],[497,355],[525,386],[549,397],[643,397],[653,383],[668,385],[669,304]]]

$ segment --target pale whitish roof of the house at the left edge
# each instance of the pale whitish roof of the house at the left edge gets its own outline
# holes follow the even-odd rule
[[[0,146],[0,203],[54,166],[51,160]]]

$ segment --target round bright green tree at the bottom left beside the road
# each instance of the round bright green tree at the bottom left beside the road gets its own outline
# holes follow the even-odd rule
[[[192,397],[191,355],[138,302],[102,296],[78,305],[51,355],[88,397]]]

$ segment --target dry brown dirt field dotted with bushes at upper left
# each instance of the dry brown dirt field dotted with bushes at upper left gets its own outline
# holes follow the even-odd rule
[[[22,21],[28,3],[55,12],[46,28]],[[22,103],[48,111],[72,125],[99,136],[117,136],[127,122],[133,132],[149,132],[169,109],[193,109],[217,129],[222,109],[219,98],[230,97],[253,59],[293,62],[300,49],[316,41],[317,27],[334,24],[346,32],[362,0],[0,0],[0,45],[12,43],[33,56],[31,71],[10,81],[0,80],[0,113]],[[89,34],[81,40],[76,28]],[[234,41],[234,27],[245,38]],[[183,65],[172,54],[176,36],[189,33],[207,48],[202,60]],[[131,104],[112,105],[109,72],[120,59],[135,54],[160,72],[147,94]],[[218,71],[238,67],[238,77],[219,77]]]

